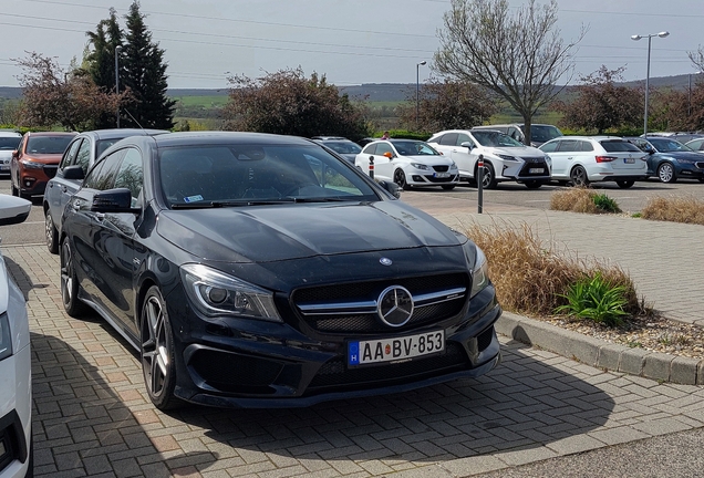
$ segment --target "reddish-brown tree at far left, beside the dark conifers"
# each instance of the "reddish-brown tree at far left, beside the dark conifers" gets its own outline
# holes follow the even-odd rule
[[[116,111],[124,98],[104,92],[81,70],[64,72],[53,58],[33,52],[14,61],[23,70],[19,79],[23,89],[19,112],[22,126],[60,124],[70,131],[93,129],[95,118]]]

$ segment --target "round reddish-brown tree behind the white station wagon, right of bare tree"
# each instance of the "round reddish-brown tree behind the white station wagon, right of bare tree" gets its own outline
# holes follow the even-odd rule
[[[581,76],[577,97],[570,102],[557,102],[562,113],[561,123],[576,129],[607,129],[636,127],[642,121],[643,92],[628,86],[618,86],[625,69],[608,70],[601,66],[587,76]]]

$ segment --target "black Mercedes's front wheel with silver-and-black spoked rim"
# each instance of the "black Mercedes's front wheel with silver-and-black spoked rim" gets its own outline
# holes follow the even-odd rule
[[[141,321],[141,358],[144,384],[149,399],[161,411],[176,408],[180,401],[176,387],[176,353],[174,333],[166,311],[166,302],[156,285],[144,299]]]

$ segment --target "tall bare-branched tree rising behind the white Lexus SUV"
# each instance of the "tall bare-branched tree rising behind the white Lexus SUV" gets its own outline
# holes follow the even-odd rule
[[[491,90],[524,118],[526,143],[538,108],[562,90],[574,67],[576,42],[563,44],[557,22],[557,2],[537,6],[529,0],[509,12],[508,0],[452,0],[438,32],[441,48],[435,69],[443,75]]]

